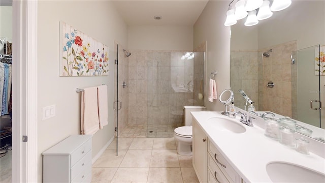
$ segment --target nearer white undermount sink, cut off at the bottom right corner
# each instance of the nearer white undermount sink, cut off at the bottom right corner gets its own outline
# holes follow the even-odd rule
[[[266,170],[273,182],[325,182],[324,174],[296,164],[271,162]]]

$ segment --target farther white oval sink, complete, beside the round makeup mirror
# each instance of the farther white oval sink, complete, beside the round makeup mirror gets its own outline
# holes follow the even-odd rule
[[[228,131],[232,133],[244,133],[246,132],[245,127],[243,127],[238,122],[232,119],[220,118],[220,117],[211,117],[207,120],[207,123],[213,124],[211,128],[214,128],[218,131]]]

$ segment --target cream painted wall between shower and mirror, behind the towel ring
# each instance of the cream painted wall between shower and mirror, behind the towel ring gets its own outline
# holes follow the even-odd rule
[[[207,78],[206,86],[209,87],[210,73],[217,71],[217,93],[230,88],[230,27],[224,26],[228,1],[209,1],[204,11],[194,24],[194,48],[207,41]],[[207,89],[206,89],[207,90]],[[208,110],[223,111],[224,106],[219,100],[213,103],[207,100]]]

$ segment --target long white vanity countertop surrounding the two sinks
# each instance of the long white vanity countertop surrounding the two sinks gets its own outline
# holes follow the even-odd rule
[[[266,137],[264,129],[254,124],[261,121],[253,120],[254,127],[249,127],[242,124],[239,118],[235,119],[246,129],[246,132],[236,134],[215,130],[211,127],[217,125],[217,122],[215,124],[206,122],[211,117],[232,119],[222,115],[221,112],[191,113],[212,143],[246,182],[272,182],[266,171],[266,165],[270,162],[292,163],[325,174],[324,158],[313,153],[303,155],[293,148]]]

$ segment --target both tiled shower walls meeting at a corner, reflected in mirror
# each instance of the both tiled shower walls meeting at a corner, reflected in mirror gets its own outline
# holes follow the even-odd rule
[[[272,49],[269,57],[263,52]],[[231,88],[235,93],[235,105],[244,108],[245,100],[238,93],[242,88],[255,102],[258,111],[273,111],[292,117],[291,52],[297,50],[297,41],[270,48],[231,51]],[[267,87],[273,81],[273,88]]]

